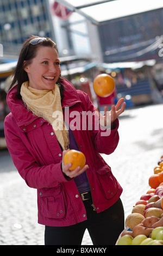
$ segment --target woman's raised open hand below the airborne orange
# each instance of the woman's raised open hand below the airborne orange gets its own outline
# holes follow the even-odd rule
[[[109,127],[109,125],[112,125],[114,121],[118,118],[118,116],[124,112],[124,109],[126,108],[126,102],[123,102],[123,101],[124,101],[123,98],[118,100],[116,106],[115,105],[111,106],[110,111],[108,111],[108,107],[105,106],[104,115],[99,113],[98,109],[96,109],[99,115],[99,123],[102,126]]]

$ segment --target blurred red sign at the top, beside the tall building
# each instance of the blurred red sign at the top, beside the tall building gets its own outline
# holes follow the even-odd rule
[[[52,13],[62,20],[67,20],[72,14],[72,11],[68,10],[64,5],[54,2],[52,5]]]

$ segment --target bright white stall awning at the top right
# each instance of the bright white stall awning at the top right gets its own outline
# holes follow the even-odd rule
[[[96,25],[109,20],[163,8],[162,0],[57,0],[57,2],[71,11],[83,15]]]

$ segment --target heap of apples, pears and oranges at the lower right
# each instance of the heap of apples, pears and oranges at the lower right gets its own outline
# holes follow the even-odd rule
[[[163,156],[149,177],[149,190],[131,209],[116,245],[163,245]]]

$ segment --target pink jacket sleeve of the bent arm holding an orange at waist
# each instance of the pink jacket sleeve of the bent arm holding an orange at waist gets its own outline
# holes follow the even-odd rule
[[[60,182],[66,182],[61,170],[61,162],[39,166],[23,143],[20,132],[14,118],[9,114],[4,121],[5,140],[12,161],[27,185],[33,188],[43,188],[58,186]]]

